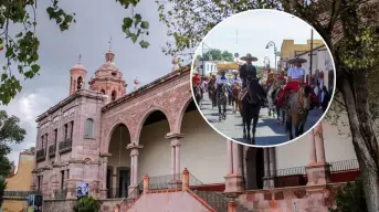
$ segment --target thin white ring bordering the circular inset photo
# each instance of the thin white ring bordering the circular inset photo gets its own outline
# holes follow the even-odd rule
[[[193,99],[194,99],[193,86],[192,86],[192,75],[193,75],[192,72],[193,72],[193,65],[194,65],[193,63],[194,63],[194,60],[196,60],[196,57],[197,57],[196,52],[197,52],[198,49],[201,46],[201,43],[203,43],[203,41],[204,41],[204,40],[207,39],[207,36],[212,32],[212,30],[214,30],[217,26],[219,26],[219,25],[220,25],[222,22],[224,22],[225,20],[231,19],[231,18],[234,18],[234,17],[236,17],[236,15],[241,15],[241,14],[248,13],[248,12],[252,12],[252,11],[254,11],[254,12],[267,12],[267,11],[270,11],[270,12],[284,13],[284,14],[286,14],[286,15],[291,15],[291,17],[293,17],[293,18],[296,18],[296,19],[299,20],[299,21],[303,21],[304,23],[306,23],[307,25],[309,25],[314,31],[317,32],[317,30],[316,30],[314,26],[312,26],[309,23],[307,23],[307,22],[304,21],[303,19],[301,19],[301,18],[298,18],[298,17],[296,17],[296,15],[294,15],[294,14],[291,14],[291,13],[287,13],[287,12],[284,12],[284,11],[280,11],[280,10],[274,10],[274,9],[253,9],[253,10],[248,10],[248,11],[239,12],[239,13],[236,13],[236,14],[233,14],[233,15],[231,15],[231,17],[228,17],[227,19],[222,20],[220,23],[218,23],[217,25],[214,25],[214,26],[207,33],[207,35],[202,39],[202,41],[200,42],[199,46],[198,46],[198,47],[196,49],[196,51],[194,51],[194,56],[193,56],[193,59],[192,59],[191,71],[190,71],[191,95],[192,95],[192,98],[193,98]],[[318,33],[318,32],[317,32],[317,33]],[[326,46],[326,49],[327,49],[327,51],[328,51],[328,53],[329,53],[329,55],[330,55],[331,63],[333,63],[333,67],[334,67],[334,70],[333,70],[333,71],[334,71],[333,95],[331,95],[331,98],[330,98],[330,100],[329,100],[329,105],[328,105],[328,107],[326,108],[325,113],[323,113],[322,117],[317,120],[317,123],[316,123],[315,125],[313,125],[313,126],[312,126],[307,131],[305,131],[303,135],[301,135],[301,136],[298,136],[297,138],[294,138],[294,139],[292,139],[292,140],[288,140],[288,141],[282,142],[282,144],[277,144],[277,145],[267,145],[267,146],[250,145],[250,144],[245,144],[245,142],[241,142],[241,141],[231,139],[231,138],[229,138],[228,136],[225,136],[224,134],[220,132],[219,129],[217,129],[211,123],[208,121],[208,119],[207,119],[207,118],[204,117],[204,115],[202,114],[202,112],[201,112],[201,109],[200,109],[198,103],[197,103],[196,100],[193,100],[194,104],[196,104],[196,106],[198,107],[198,110],[200,112],[200,115],[201,115],[202,118],[208,123],[208,125],[209,125],[210,127],[212,127],[212,128],[214,129],[214,131],[217,131],[218,134],[220,134],[222,137],[224,137],[224,138],[227,138],[227,139],[233,141],[233,142],[236,142],[236,144],[240,144],[240,145],[243,145],[243,146],[248,146],[248,147],[255,147],[255,148],[280,147],[280,146],[287,145],[287,144],[289,144],[289,142],[296,141],[296,140],[303,138],[304,136],[308,135],[308,134],[309,134],[309,132],[310,132],[320,121],[323,121],[325,115],[326,115],[326,114],[328,113],[328,110],[330,109],[331,102],[334,100],[334,97],[335,97],[335,94],[336,94],[336,82],[337,82],[337,81],[336,81],[336,78],[337,78],[337,77],[336,77],[336,75],[337,75],[337,73],[336,73],[336,64],[335,64],[333,54],[331,54],[331,52],[330,52],[330,50],[329,50],[329,46],[326,44],[326,42],[325,42],[325,40],[324,40],[323,36],[322,36],[322,40],[323,40],[324,45]]]

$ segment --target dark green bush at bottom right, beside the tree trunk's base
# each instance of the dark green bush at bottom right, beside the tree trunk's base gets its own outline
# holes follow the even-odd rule
[[[337,191],[336,206],[336,209],[330,209],[330,212],[367,212],[361,179],[356,179],[354,183],[348,182]]]

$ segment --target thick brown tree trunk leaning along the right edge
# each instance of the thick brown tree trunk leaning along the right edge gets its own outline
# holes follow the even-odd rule
[[[346,77],[338,80],[338,84],[347,107],[352,145],[364,182],[366,204],[369,212],[378,212],[378,142],[372,129],[373,120],[368,105],[365,72],[356,71],[354,74],[345,72],[345,74]],[[348,81],[348,75],[352,75],[354,81]]]

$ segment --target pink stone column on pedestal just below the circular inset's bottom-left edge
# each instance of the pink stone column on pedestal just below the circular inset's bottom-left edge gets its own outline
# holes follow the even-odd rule
[[[227,140],[229,142],[230,140]],[[232,142],[232,141],[230,141]],[[229,148],[229,147],[228,147]],[[241,146],[236,142],[231,144],[232,153],[232,173],[228,173],[225,178],[225,193],[238,194],[243,191],[243,177],[240,173],[240,155]],[[228,159],[229,161],[230,159]]]

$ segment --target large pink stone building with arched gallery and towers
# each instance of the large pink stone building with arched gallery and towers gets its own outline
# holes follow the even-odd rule
[[[335,188],[359,174],[351,141],[327,121],[275,148],[225,142],[197,110],[189,68],[168,70],[126,94],[115,54],[105,57],[90,81],[84,65],[72,67],[69,96],[36,118],[32,189],[43,192],[45,211],[71,211],[78,182],[88,183],[102,211],[117,203],[127,204],[124,211],[175,211],[191,201],[203,202],[201,211],[223,211],[231,199],[238,211],[327,211]],[[185,168],[193,192],[179,192],[172,189]],[[146,173],[154,195],[141,192]],[[169,197],[178,201],[168,209],[160,200]]]

